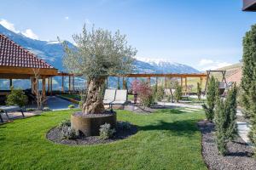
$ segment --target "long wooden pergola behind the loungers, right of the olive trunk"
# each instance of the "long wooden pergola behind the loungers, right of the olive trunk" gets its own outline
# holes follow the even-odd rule
[[[167,73],[167,74],[147,74],[147,73],[143,73],[143,74],[125,74],[125,75],[121,75],[118,76],[118,84],[119,84],[119,79],[122,78],[123,79],[123,87],[125,87],[124,84],[124,79],[125,78],[129,78],[129,77],[133,77],[135,79],[137,78],[147,78],[148,79],[148,84],[150,85],[151,82],[151,78],[155,78],[155,83],[158,84],[158,78],[159,77],[163,77],[165,78],[165,83],[164,86],[166,88],[167,86],[167,79],[169,78],[180,78],[180,82],[181,82],[181,87],[183,87],[183,79],[185,80],[185,94],[187,94],[187,89],[188,89],[188,78],[199,78],[200,83],[202,84],[202,81],[204,78],[207,77],[206,73],[198,73],[198,74],[177,74],[177,73]],[[107,87],[108,87],[108,79],[107,79]]]

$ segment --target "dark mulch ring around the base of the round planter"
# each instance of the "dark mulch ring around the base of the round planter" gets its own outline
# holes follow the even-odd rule
[[[120,122],[117,123],[116,133],[114,133],[111,139],[100,139],[99,136],[79,137],[79,139],[62,139],[61,129],[54,127],[46,134],[46,138],[57,144],[67,145],[89,145],[89,144],[107,144],[120,139],[127,139],[131,135],[137,133],[137,127],[131,125],[130,129],[124,129],[120,126]]]

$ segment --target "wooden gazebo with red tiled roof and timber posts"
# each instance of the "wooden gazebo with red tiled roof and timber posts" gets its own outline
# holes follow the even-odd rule
[[[30,79],[32,92],[34,92],[35,89],[38,90],[35,71],[42,79],[42,92],[45,95],[45,79],[48,79],[48,85],[52,84],[52,77],[60,74],[58,70],[0,34],[0,79],[9,79],[10,86],[12,86],[13,79]],[[52,85],[48,88],[52,90]]]

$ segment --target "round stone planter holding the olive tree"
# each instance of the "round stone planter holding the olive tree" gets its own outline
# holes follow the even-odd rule
[[[79,111],[71,116],[71,125],[79,133],[84,136],[99,135],[100,126],[109,123],[111,127],[116,126],[116,113],[113,111],[105,111],[104,114],[88,114],[84,115]]]

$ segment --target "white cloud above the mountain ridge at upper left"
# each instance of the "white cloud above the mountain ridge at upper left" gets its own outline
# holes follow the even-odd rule
[[[36,35],[32,29],[26,29],[25,31],[20,31],[15,28],[15,25],[13,23],[10,23],[8,20],[1,19],[0,25],[7,28],[9,31],[13,31],[15,33],[21,33],[23,36],[32,38],[32,39],[38,39],[38,35]]]

